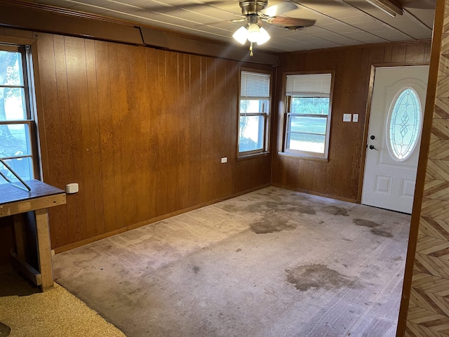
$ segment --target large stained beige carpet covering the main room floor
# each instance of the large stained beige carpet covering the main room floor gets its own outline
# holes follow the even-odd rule
[[[275,187],[57,254],[129,337],[394,337],[410,216]]]

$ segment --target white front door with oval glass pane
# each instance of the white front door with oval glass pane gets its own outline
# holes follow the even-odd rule
[[[362,204],[412,213],[428,66],[375,69]]]

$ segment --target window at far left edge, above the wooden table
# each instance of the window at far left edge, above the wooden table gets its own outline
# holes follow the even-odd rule
[[[23,180],[38,175],[34,168],[36,137],[29,95],[30,56],[28,46],[0,44],[0,158]],[[0,170],[16,180],[1,163]],[[6,180],[0,177],[0,183]]]

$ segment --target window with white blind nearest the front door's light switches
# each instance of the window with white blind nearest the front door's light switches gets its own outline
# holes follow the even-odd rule
[[[328,157],[332,74],[286,77],[286,130],[283,151]]]

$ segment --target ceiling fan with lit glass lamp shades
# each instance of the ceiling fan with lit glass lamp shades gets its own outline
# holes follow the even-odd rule
[[[297,8],[297,4],[290,1],[268,6],[268,0],[239,0],[239,6],[244,18],[232,22],[246,21],[246,24],[237,29],[232,37],[240,44],[245,44],[246,40],[250,41],[251,56],[253,56],[253,43],[260,45],[270,39],[267,30],[262,27],[262,22],[291,30],[310,27],[315,23],[315,20],[277,16]]]

